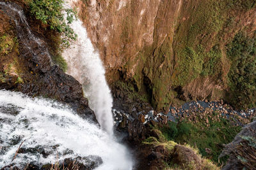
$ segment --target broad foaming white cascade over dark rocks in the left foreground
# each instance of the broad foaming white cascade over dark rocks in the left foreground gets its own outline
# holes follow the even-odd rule
[[[3,111],[3,107],[11,108],[12,112]],[[38,152],[20,153],[13,160],[18,167],[24,162],[54,163],[57,155],[60,161],[97,155],[103,160],[97,169],[132,169],[131,157],[124,146],[62,104],[0,90],[0,108],[0,167],[12,162],[24,141],[21,148],[40,147],[51,154],[45,158]],[[53,146],[57,146],[56,149]],[[67,150],[73,152],[67,153]]]

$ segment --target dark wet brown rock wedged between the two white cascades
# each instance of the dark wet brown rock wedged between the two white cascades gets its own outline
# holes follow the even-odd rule
[[[70,105],[84,118],[97,122],[95,115],[83,97],[81,84],[65,74],[59,66],[51,66],[47,44],[31,31],[22,8],[15,3],[0,1],[2,19],[14,29],[19,40],[19,53],[15,56],[20,63],[22,83],[6,81],[0,88],[18,90],[29,96],[43,96]],[[13,10],[15,9],[15,10]],[[12,17],[11,17],[12,16]],[[2,63],[4,64],[4,63]],[[1,64],[0,64],[1,65]],[[21,66],[22,65],[22,66]]]

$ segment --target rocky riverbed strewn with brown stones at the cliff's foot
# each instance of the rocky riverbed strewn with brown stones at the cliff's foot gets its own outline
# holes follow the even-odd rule
[[[146,112],[143,110],[136,114],[129,114],[114,108],[113,115],[116,127],[123,125],[125,121],[132,122],[135,119],[143,124],[148,124],[151,121],[167,124],[168,121],[177,122],[186,118],[189,122],[194,123],[204,120],[207,125],[212,115],[217,115],[217,118],[214,117],[217,121],[220,121],[220,118],[226,118],[231,120],[234,125],[243,126],[252,122],[252,119],[256,116],[256,109],[234,110],[228,104],[223,104],[223,101],[191,101],[180,107],[170,106],[168,113],[154,110]]]

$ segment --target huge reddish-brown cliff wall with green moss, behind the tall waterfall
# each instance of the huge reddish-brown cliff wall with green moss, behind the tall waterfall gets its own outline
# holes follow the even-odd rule
[[[230,96],[226,45],[253,37],[255,1],[77,1],[107,79],[149,94],[155,108]],[[235,103],[236,105],[236,103]]]

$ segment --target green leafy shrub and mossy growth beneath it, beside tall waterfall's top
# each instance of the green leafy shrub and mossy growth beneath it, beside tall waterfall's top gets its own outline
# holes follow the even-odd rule
[[[29,13],[41,22],[45,31],[51,32],[47,38],[51,40],[49,51],[52,61],[66,71],[67,62],[61,52],[77,39],[77,34],[70,27],[77,20],[76,10],[69,8],[63,0],[26,0],[26,4]]]

